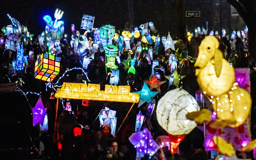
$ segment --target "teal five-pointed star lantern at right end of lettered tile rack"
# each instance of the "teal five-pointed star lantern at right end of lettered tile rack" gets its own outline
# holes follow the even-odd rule
[[[153,98],[158,92],[150,91],[150,89],[148,88],[148,85],[144,82],[141,91],[134,92],[134,93],[140,94],[140,101],[138,105],[138,107],[140,107],[145,102],[151,103],[153,101]]]

